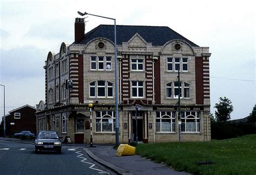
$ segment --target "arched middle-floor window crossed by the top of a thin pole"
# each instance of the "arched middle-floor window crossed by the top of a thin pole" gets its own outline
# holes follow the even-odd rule
[[[166,97],[167,99],[178,99],[179,88],[180,88],[180,98],[189,99],[190,98],[190,83],[183,81],[173,81],[166,83]]]

